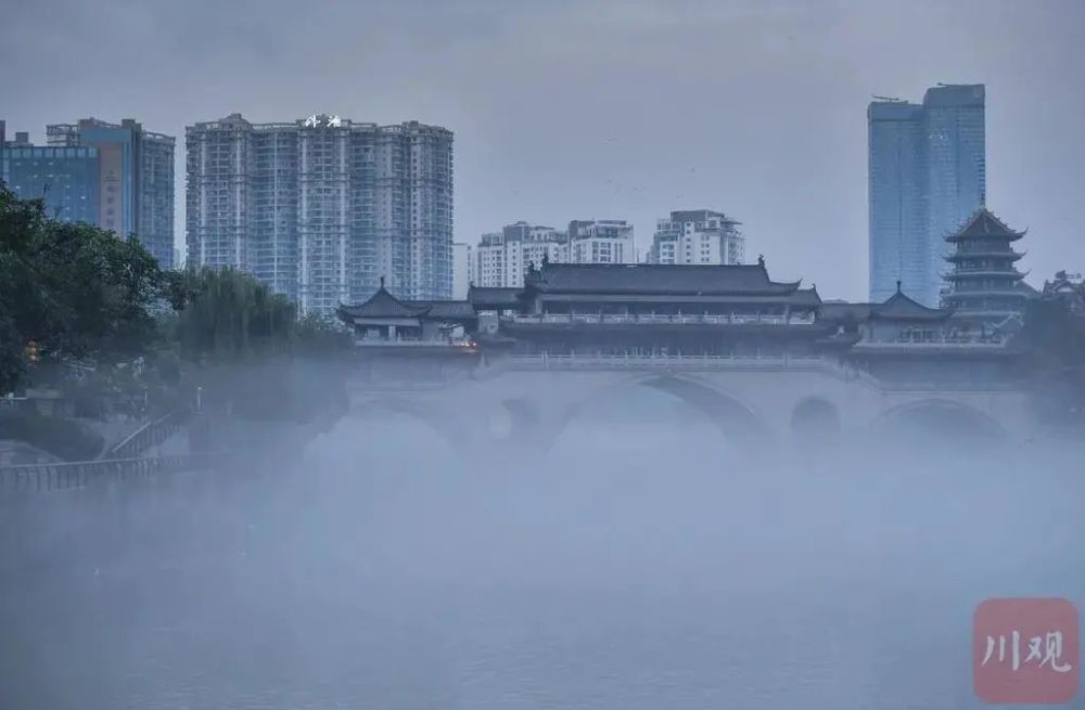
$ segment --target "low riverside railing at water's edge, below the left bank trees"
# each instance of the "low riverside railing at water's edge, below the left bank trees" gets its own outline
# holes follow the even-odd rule
[[[0,466],[0,495],[48,493],[85,488],[104,480],[146,478],[155,474],[195,470],[210,466],[221,459],[221,454],[200,453]]]

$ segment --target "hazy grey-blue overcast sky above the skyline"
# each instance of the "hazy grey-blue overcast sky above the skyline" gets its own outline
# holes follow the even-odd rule
[[[315,113],[455,132],[455,238],[520,219],[740,220],[746,258],[867,294],[872,94],[987,87],[987,205],[1029,281],[1085,271],[1085,2],[0,0],[9,134]]]

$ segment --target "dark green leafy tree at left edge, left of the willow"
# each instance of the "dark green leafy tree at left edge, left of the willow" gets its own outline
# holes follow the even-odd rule
[[[0,184],[0,393],[44,358],[132,358],[156,337],[153,310],[180,305],[175,280],[135,238],[49,219]]]

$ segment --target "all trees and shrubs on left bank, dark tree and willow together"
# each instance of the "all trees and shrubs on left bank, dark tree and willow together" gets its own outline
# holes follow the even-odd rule
[[[291,387],[282,369],[348,346],[337,324],[298,318],[293,304],[251,276],[163,270],[135,237],[51,219],[41,201],[20,199],[0,183],[0,396],[58,389],[76,416],[100,417],[106,409],[171,409],[197,390],[208,404],[257,411],[234,403],[275,391],[277,409],[258,413],[294,418],[341,398],[334,378],[321,378],[317,397]],[[280,382],[253,382],[246,372]],[[0,438],[28,441],[28,427],[49,426],[41,417],[18,427],[5,419]]]

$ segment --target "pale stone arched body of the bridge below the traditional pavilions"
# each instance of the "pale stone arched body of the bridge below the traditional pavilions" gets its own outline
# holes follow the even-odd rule
[[[946,439],[1025,441],[1027,392],[987,385],[879,382],[826,358],[506,357],[429,384],[371,374],[352,388],[359,415],[406,414],[472,456],[547,452],[585,408],[626,388],[667,392],[737,443],[833,443],[902,430]]]

